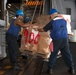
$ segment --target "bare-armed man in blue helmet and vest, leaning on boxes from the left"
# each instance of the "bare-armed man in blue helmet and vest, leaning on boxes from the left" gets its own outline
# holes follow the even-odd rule
[[[23,16],[24,13],[22,10],[16,11],[16,19],[13,19],[9,29],[6,32],[6,42],[8,45],[8,53],[10,62],[13,69],[21,70],[22,67],[19,65],[18,62],[18,51],[19,46],[17,39],[19,37],[19,32],[21,27],[28,27],[29,25],[23,23]]]

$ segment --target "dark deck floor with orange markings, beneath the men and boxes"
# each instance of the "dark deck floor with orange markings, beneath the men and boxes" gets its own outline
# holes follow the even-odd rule
[[[76,43],[70,43],[71,53],[73,55],[76,66]],[[20,65],[23,67],[22,71],[12,70],[7,59],[0,62],[0,75],[49,75],[46,73],[48,62],[43,61],[43,58],[38,56],[30,56],[29,59],[19,58]],[[5,64],[5,65],[4,65]],[[56,66],[53,70],[54,75],[70,75],[68,68],[64,64],[62,58],[57,59]]]

